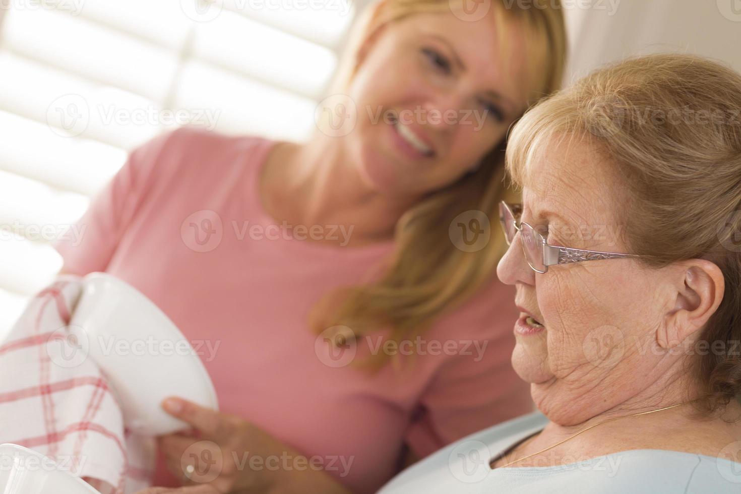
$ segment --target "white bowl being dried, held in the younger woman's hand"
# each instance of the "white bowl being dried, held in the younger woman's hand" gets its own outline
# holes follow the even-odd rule
[[[216,390],[190,341],[149,298],[121,279],[107,273],[84,277],[70,333],[104,373],[133,433],[163,435],[188,427],[162,410],[167,396],[219,409]]]

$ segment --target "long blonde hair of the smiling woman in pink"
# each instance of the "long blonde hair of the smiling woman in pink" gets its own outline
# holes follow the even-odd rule
[[[505,3],[492,1],[488,15],[496,16],[503,44],[510,22],[521,22],[525,27],[529,102],[534,103],[558,89],[562,79],[566,36],[559,1],[525,10],[516,2],[512,7],[505,7]],[[348,88],[358,69],[356,56],[362,42],[379,27],[416,13],[449,13],[451,5],[449,0],[383,0],[369,7],[355,27],[332,90],[342,93]],[[506,245],[494,220],[498,217],[497,204],[512,197],[503,183],[504,145],[502,141],[483,156],[477,170],[408,210],[396,225],[396,249],[383,275],[377,281],[345,287],[326,296],[310,316],[316,333],[344,325],[351,329],[350,337],[355,338],[382,328],[388,328],[388,338],[396,341],[417,336],[488,281]],[[468,210],[479,210],[492,220],[491,239],[477,252],[459,250],[448,233],[453,218]],[[339,335],[333,341],[337,344],[346,337]],[[378,370],[385,361],[388,356],[381,353],[355,364]]]

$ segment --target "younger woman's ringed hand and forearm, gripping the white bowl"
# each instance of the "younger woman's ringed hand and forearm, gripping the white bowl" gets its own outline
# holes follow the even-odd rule
[[[219,493],[348,493],[323,471],[269,463],[272,458],[306,458],[236,415],[180,398],[167,398],[162,407],[193,426],[158,438],[168,470],[185,484],[209,484]]]

